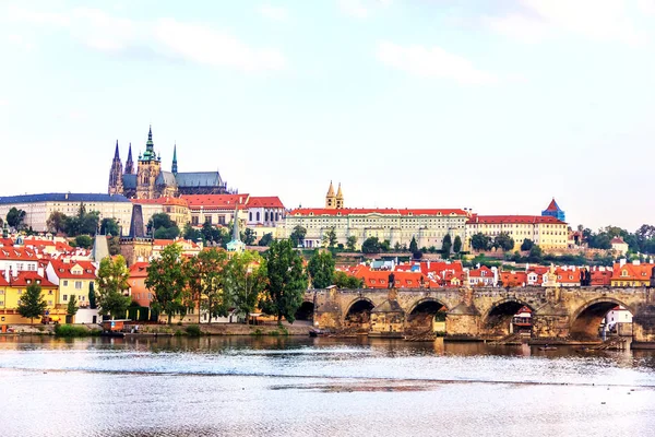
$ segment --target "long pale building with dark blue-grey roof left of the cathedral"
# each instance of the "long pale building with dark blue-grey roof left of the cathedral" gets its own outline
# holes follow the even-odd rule
[[[35,232],[46,232],[46,222],[55,211],[68,216],[76,215],[80,204],[87,212],[97,211],[103,218],[116,218],[122,227],[123,235],[130,231],[132,203],[120,194],[66,193],[53,192],[46,194],[24,194],[0,197],[0,217],[15,208],[25,211],[23,224]]]

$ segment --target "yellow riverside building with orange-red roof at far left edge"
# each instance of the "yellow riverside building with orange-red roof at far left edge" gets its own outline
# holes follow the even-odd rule
[[[16,275],[10,275],[5,272],[0,280],[0,323],[29,323],[31,320],[21,316],[17,311],[21,296],[32,284],[40,285],[41,297],[47,304],[47,315],[52,319],[63,323],[66,321],[66,308],[60,308],[58,302],[57,285],[45,277],[39,276],[37,272],[17,272]],[[35,322],[40,319],[35,319]]]

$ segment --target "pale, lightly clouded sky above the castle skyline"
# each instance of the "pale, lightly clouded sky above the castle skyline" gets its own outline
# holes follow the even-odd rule
[[[3,0],[0,196],[114,149],[322,206],[655,224],[655,0]]]

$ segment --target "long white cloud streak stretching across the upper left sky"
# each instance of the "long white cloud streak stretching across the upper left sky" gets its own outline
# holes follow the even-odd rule
[[[145,50],[247,72],[277,71],[286,67],[284,55],[276,49],[252,47],[226,32],[174,19],[136,22],[98,9],[34,13],[14,8],[12,20],[68,29],[72,38],[99,51],[130,54]]]

